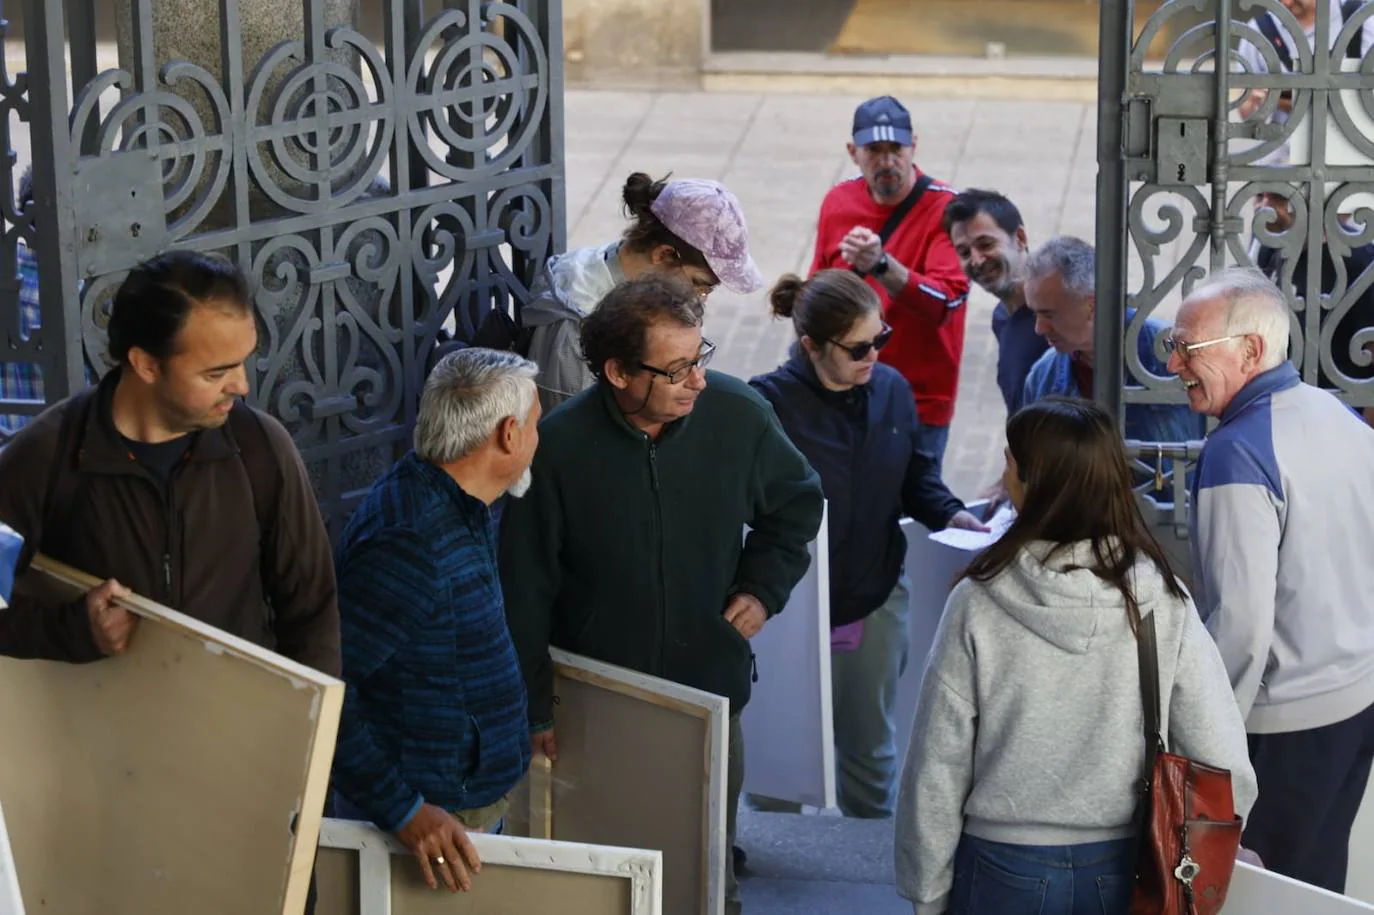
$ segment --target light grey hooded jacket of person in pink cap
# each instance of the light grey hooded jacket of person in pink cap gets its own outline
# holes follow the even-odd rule
[[[595,383],[583,360],[583,319],[602,297],[625,282],[620,240],[555,254],[530,286],[521,323],[532,327],[529,359],[539,364],[540,407],[547,414]]]

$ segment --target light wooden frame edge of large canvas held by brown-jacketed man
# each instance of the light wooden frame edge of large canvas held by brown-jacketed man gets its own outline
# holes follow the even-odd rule
[[[37,587],[65,599],[76,599],[100,584],[99,578],[41,554],[33,558],[23,578],[29,580],[25,583],[25,587]],[[126,599],[117,599],[114,603],[140,617],[144,625],[155,624],[172,633],[188,636],[202,643],[213,654],[236,658],[247,665],[268,670],[297,688],[313,691],[312,717],[315,720],[315,732],[309,741],[309,749],[304,761],[304,794],[298,798],[298,809],[290,812],[294,813],[294,831],[290,839],[290,857],[287,861],[283,861],[284,883],[282,888],[282,911],[289,915],[304,911],[309,893],[326,793],[328,790],[339,714],[344,706],[342,680],[320,673],[147,598],[132,595]],[[135,639],[139,639],[139,633],[135,633]],[[113,661],[103,664],[110,662]],[[283,817],[286,813],[283,812]]]

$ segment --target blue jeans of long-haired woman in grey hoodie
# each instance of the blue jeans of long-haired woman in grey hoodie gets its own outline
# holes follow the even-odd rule
[[[1007,845],[965,835],[947,915],[1127,915],[1135,839]]]

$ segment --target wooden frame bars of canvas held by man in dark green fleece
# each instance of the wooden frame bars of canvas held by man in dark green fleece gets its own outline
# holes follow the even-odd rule
[[[730,702],[724,697],[671,683],[647,673],[628,670],[613,664],[594,661],[559,648],[550,648],[554,662],[554,692],[558,694],[558,680],[572,680],[609,692],[629,697],[680,714],[698,719],[705,732],[705,750],[701,760],[702,784],[702,835],[708,838],[701,855],[702,907],[699,915],[717,915],[725,905],[724,867],[725,855],[725,776],[730,743]],[[558,731],[555,712],[555,732]],[[562,752],[562,746],[559,750]],[[511,795],[511,812],[507,815],[507,834],[550,837],[558,841],[576,839],[558,835],[558,800],[554,786],[559,783],[559,765],[543,756],[536,756],[530,764],[529,776],[521,782]],[[672,867],[669,860],[666,867]],[[671,900],[669,900],[671,901]]]

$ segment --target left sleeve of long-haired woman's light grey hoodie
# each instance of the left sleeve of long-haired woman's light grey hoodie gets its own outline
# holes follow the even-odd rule
[[[969,589],[962,583],[945,605],[897,791],[897,892],[916,915],[943,915],[948,905],[963,806],[973,787],[978,706],[962,625]]]

